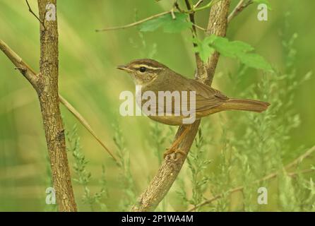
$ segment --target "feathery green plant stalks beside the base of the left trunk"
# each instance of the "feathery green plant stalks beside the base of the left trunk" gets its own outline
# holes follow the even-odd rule
[[[91,180],[91,173],[86,169],[88,160],[85,159],[85,155],[82,153],[80,138],[78,137],[78,131],[76,124],[71,131],[66,131],[67,147],[68,151],[72,153],[74,159],[73,169],[76,173],[76,178],[73,178],[74,182],[83,186],[82,201],[90,206],[92,211],[95,210],[95,204],[98,204],[101,210],[107,210],[105,203],[101,202],[102,198],[108,198],[107,182],[105,178],[105,166],[102,165],[102,177],[100,179],[100,191],[92,193],[88,187]]]

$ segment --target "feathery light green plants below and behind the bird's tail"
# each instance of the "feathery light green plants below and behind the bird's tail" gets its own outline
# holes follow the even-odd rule
[[[201,172],[198,179],[191,177],[189,182],[191,186],[188,186],[191,189],[188,191],[183,179],[178,183],[177,194],[185,206],[190,204],[196,207],[203,203],[203,197],[220,196],[218,200],[196,210],[261,211],[269,210],[270,206],[278,206],[278,210],[282,211],[314,211],[314,182],[308,174],[302,173],[301,162],[295,168],[284,169],[284,162],[295,159],[305,150],[300,147],[297,151],[292,151],[288,143],[292,129],[297,128],[301,121],[299,114],[292,108],[295,93],[300,85],[311,77],[311,72],[302,78],[297,76],[295,70],[297,51],[294,48],[296,38],[297,35],[294,34],[289,40],[283,40],[284,52],[287,56],[284,73],[264,74],[256,85],[249,85],[245,90],[238,87],[242,87],[241,83],[244,81],[248,66],[242,64],[239,73],[230,76],[234,93],[239,97],[268,101],[271,102],[271,107],[263,114],[231,112],[227,113],[227,119],[220,115],[222,121],[220,145],[211,143],[207,148],[207,150],[218,148],[220,150],[220,155],[213,160],[214,169],[210,170],[210,176],[206,176],[205,171]],[[222,42],[227,44],[225,40]],[[251,47],[237,43],[221,52],[233,56],[234,51],[251,51]],[[211,125],[215,124],[215,121],[211,121]],[[246,125],[245,129],[242,129],[244,125]],[[206,156],[201,159],[205,160]],[[194,158],[194,162],[188,158],[187,165],[191,172],[199,172],[191,167],[198,161],[201,161],[198,157]],[[310,168],[311,166],[307,167]],[[279,172],[277,179],[261,180],[273,172]],[[292,174],[292,172],[297,173]],[[198,186],[200,187],[203,177],[208,177],[206,189],[196,190]],[[242,186],[242,189],[230,194],[230,189],[239,186]],[[262,186],[268,189],[268,205],[257,203],[257,191]],[[198,198],[189,198],[189,194],[193,194],[194,197],[196,191]]]

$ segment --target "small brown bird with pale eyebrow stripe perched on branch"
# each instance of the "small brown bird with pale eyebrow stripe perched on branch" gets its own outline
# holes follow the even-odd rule
[[[172,71],[164,64],[160,64],[153,59],[136,59],[124,66],[117,66],[117,69],[130,73],[134,83],[136,83],[136,85],[142,85],[142,93],[145,93],[145,91],[152,91],[158,95],[157,93],[159,91],[179,91],[179,93],[183,91],[194,91],[196,94],[196,119],[201,119],[201,117],[206,117],[210,114],[226,110],[263,112],[270,105],[268,102],[259,100],[229,98],[219,90],[215,90],[214,88],[194,79],[185,78],[179,73]],[[145,100],[142,100],[143,104],[144,102]],[[187,98],[187,103],[189,103],[189,97]],[[177,109],[177,107],[182,108],[183,103],[181,105],[175,105],[174,98],[172,98],[171,114],[158,114],[161,113],[161,111],[162,113],[166,113],[166,107],[159,108],[156,106],[155,111],[157,114],[148,115],[148,117],[155,121],[159,121],[162,124],[182,125],[185,116],[183,114],[174,114],[177,110],[181,112],[181,109]],[[187,131],[189,131],[189,129],[186,130],[186,132]],[[180,153],[180,150],[177,150],[177,145],[184,137],[184,134],[185,132],[173,143],[172,147],[165,155],[173,152]]]

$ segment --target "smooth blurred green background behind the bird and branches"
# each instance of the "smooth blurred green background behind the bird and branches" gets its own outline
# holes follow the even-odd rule
[[[29,2],[37,13],[37,1]],[[232,6],[237,2],[233,0]],[[271,5],[273,10],[268,13],[268,21],[265,22],[256,19],[256,5],[249,6],[232,20],[227,37],[248,42],[276,69],[284,71],[286,53],[282,42],[296,32],[298,37],[294,47],[297,49],[297,76],[302,78],[308,71],[315,71],[315,1],[271,0]],[[189,30],[176,34],[160,30],[139,33],[136,27],[108,32],[95,32],[95,29],[125,25],[136,18],[146,18],[169,10],[171,6],[172,1],[167,0],[158,3],[154,0],[63,0],[57,4],[60,93],[81,112],[111,150],[115,150],[112,140],[114,127],[117,124],[121,126],[131,156],[131,172],[138,193],[145,188],[158,167],[158,161],[148,145],[153,141],[148,136],[152,122],[145,117],[120,116],[119,93],[133,90],[133,83],[125,73],[117,71],[116,66],[131,59],[153,56],[174,71],[192,78],[195,64],[191,33]],[[22,0],[1,0],[0,12],[1,40],[38,71],[38,21]],[[196,21],[205,28],[208,10],[198,13]],[[280,33],[284,28],[286,32],[283,37]],[[226,95],[235,95],[232,93],[233,83],[226,79],[229,73],[232,76],[237,73],[237,63],[221,58],[213,87]],[[261,74],[261,71],[254,69],[246,71],[238,89],[256,83]],[[295,95],[293,107],[301,117],[301,125],[290,132],[290,150],[297,150],[301,145],[310,147],[315,143],[314,86],[315,78],[311,78],[298,88]],[[63,106],[61,112],[66,129],[78,124]],[[213,117],[220,119],[218,116]],[[42,127],[36,93],[28,81],[14,70],[11,61],[0,53],[0,210],[42,211],[47,208],[44,201],[49,174]],[[107,206],[109,210],[117,210],[117,201],[121,198],[121,191],[117,189],[117,166],[81,124],[78,124],[78,136],[81,138],[82,151],[89,160],[88,170],[93,177],[91,191],[98,189],[97,177],[104,164],[110,194]],[[160,155],[162,152],[160,150]],[[288,160],[297,155],[298,151],[292,153]],[[71,154],[69,160],[73,165]],[[89,210],[81,202],[82,187],[73,182],[73,188],[80,210]]]

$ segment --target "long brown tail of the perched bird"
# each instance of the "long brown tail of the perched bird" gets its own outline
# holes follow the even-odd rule
[[[222,107],[223,110],[239,110],[249,112],[263,112],[266,111],[270,104],[259,100],[248,99],[233,99],[227,100]]]

